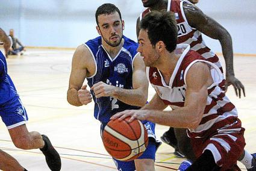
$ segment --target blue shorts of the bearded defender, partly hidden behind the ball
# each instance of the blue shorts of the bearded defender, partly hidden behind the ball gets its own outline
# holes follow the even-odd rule
[[[138,159],[152,159],[155,160],[155,152],[157,151],[157,147],[160,145],[156,140],[155,140],[155,123],[152,122],[143,122],[145,125],[145,128],[148,130],[148,146],[146,148],[146,151],[143,152],[143,154],[138,158]],[[105,125],[101,125],[101,134],[102,131],[104,130]],[[135,168],[135,163],[134,161],[120,161],[116,160],[113,158],[114,164],[116,164],[117,170],[120,171],[134,171],[136,170]]]

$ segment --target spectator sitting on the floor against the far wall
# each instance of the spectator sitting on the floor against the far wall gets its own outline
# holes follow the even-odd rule
[[[22,51],[25,51],[25,47],[20,43],[19,39],[14,37],[14,30],[10,30],[9,36],[13,40],[13,46],[11,46],[10,51],[8,52],[9,55],[23,55]],[[17,46],[17,44],[19,46]]]

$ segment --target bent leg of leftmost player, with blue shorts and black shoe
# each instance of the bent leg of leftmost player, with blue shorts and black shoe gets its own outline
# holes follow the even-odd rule
[[[51,145],[51,141],[39,132],[28,132],[25,123],[28,120],[27,112],[19,98],[8,101],[1,109],[1,117],[8,128],[14,145],[21,149],[38,149],[43,152],[51,170],[60,170],[60,155]]]

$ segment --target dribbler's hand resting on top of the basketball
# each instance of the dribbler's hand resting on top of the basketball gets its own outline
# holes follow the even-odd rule
[[[132,122],[134,119],[147,120],[147,117],[150,113],[150,110],[125,110],[114,114],[110,117],[110,119],[123,120],[126,117],[130,116],[131,118],[128,120],[128,122]]]

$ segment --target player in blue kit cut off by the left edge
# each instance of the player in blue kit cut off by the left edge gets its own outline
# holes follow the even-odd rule
[[[10,39],[0,28],[0,40],[4,42],[5,54],[11,46]],[[16,88],[7,73],[7,63],[0,51],[0,116],[7,126],[11,140],[20,149],[38,149],[43,152],[46,163],[51,170],[60,170],[60,155],[51,145],[46,135],[39,132],[28,132],[25,123],[28,120],[27,112],[19,99]],[[10,155],[0,151],[1,170],[26,170]]]

